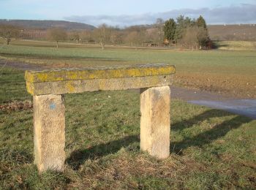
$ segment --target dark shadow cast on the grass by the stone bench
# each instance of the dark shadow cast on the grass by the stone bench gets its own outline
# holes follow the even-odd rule
[[[227,115],[233,115],[231,113],[226,113],[221,110],[208,110],[194,118],[180,121],[178,123],[173,123],[171,130],[181,131],[186,128],[192,127],[196,123],[208,120],[209,118],[223,117]],[[223,137],[232,129],[237,129],[244,123],[249,123],[252,121],[250,118],[244,116],[236,116],[230,120],[223,121],[215,125],[210,130],[198,134],[195,137],[189,137],[181,142],[171,142],[170,152],[175,152],[182,154],[182,150],[190,146],[202,147],[203,145],[211,143],[213,140],[217,140],[219,137]],[[108,143],[95,145],[88,149],[80,149],[71,153],[69,158],[66,160],[67,164],[72,166],[74,170],[78,170],[80,164],[83,164],[86,159],[95,159],[102,156],[106,156],[110,153],[116,153],[122,147],[127,147],[132,142],[139,142],[137,135],[130,135],[124,137],[120,140],[113,140]]]

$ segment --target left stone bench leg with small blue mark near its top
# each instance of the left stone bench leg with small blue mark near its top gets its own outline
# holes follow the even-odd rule
[[[65,107],[63,96],[33,96],[34,162],[39,172],[64,170]]]

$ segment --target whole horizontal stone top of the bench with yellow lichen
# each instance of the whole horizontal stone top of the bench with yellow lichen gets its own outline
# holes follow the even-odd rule
[[[26,72],[32,95],[72,94],[83,91],[125,90],[171,84],[175,67],[167,64],[116,66],[100,69],[58,69]]]

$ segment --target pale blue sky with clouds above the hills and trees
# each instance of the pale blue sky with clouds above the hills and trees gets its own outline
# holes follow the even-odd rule
[[[68,20],[132,26],[178,15],[208,24],[256,23],[256,0],[0,0],[0,19]]]

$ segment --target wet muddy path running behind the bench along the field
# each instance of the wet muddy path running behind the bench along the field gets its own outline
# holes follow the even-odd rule
[[[12,67],[20,70],[49,69],[49,66],[44,66],[42,64],[26,64],[0,59],[0,72],[4,67]],[[235,96],[224,96],[208,91],[181,88],[177,86],[171,86],[171,96],[172,99],[181,99],[192,104],[227,110],[230,113],[245,115],[246,117],[256,119],[256,99],[236,99]]]

